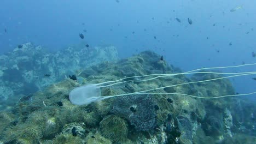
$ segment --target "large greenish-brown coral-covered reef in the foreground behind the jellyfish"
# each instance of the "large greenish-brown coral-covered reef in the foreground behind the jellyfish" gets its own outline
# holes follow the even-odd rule
[[[134,93],[73,105],[69,92],[86,83],[119,80],[148,74],[181,73],[151,51],[117,62],[106,61],[80,72],[78,80],[64,79],[36,93],[25,95],[11,109],[0,112],[0,143],[253,143],[255,109],[250,101],[236,97],[197,97],[234,94],[223,75],[195,74],[159,77],[131,77],[126,82],[101,88],[101,95]],[[134,81],[130,81],[134,80]]]

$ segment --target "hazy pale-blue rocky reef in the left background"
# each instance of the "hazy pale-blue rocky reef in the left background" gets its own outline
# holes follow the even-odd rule
[[[0,110],[69,75],[79,76],[91,65],[117,59],[113,46],[69,46],[54,53],[31,43],[16,47],[13,52],[0,56]]]

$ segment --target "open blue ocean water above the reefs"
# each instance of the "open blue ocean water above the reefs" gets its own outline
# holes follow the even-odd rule
[[[152,50],[183,71],[255,63],[255,4],[230,0],[2,1],[0,53],[30,41],[52,51],[86,42],[117,46],[121,57]],[[79,33],[85,38],[80,39]],[[223,71],[255,70],[251,66]],[[236,91],[255,91],[252,77],[232,80]]]

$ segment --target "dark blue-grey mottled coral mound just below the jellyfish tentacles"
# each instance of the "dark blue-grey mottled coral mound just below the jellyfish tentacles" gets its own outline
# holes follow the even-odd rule
[[[148,131],[156,127],[156,102],[152,95],[128,95],[114,101],[114,115],[124,117],[137,131]]]

